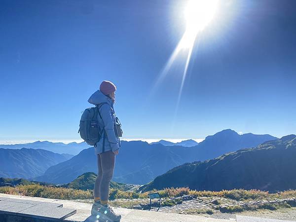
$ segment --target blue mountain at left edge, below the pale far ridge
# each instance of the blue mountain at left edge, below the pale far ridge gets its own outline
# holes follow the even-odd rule
[[[69,159],[69,155],[44,149],[0,148],[0,177],[32,178],[43,175],[51,166]]]

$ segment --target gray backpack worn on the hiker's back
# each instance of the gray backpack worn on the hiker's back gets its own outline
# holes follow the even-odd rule
[[[96,143],[99,142],[101,135],[104,133],[104,128],[100,129],[98,122],[98,114],[102,119],[99,108],[103,104],[108,103],[100,103],[99,106],[88,108],[81,115],[78,133],[80,133],[80,137],[90,146],[96,146]]]

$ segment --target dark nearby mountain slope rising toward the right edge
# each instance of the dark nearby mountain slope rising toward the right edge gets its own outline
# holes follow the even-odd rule
[[[188,186],[196,190],[288,190],[296,189],[295,172],[296,135],[289,135],[256,148],[240,149],[215,159],[175,167],[141,189]]]

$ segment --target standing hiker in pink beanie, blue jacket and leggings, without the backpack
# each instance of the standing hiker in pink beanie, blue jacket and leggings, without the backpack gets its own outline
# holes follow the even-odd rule
[[[116,121],[113,104],[115,102],[116,86],[110,81],[103,81],[100,90],[97,90],[88,99],[99,109],[98,123],[104,129],[99,142],[95,146],[98,162],[98,177],[94,185],[94,199],[91,214],[100,219],[120,221],[121,216],[116,215],[108,205],[109,185],[113,176],[115,155],[118,154],[120,140],[114,129]]]

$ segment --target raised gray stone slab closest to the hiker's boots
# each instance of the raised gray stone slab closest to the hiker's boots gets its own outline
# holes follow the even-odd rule
[[[19,211],[17,216],[43,220],[63,220],[76,214],[76,210],[62,207],[50,207],[50,203],[42,203]]]

